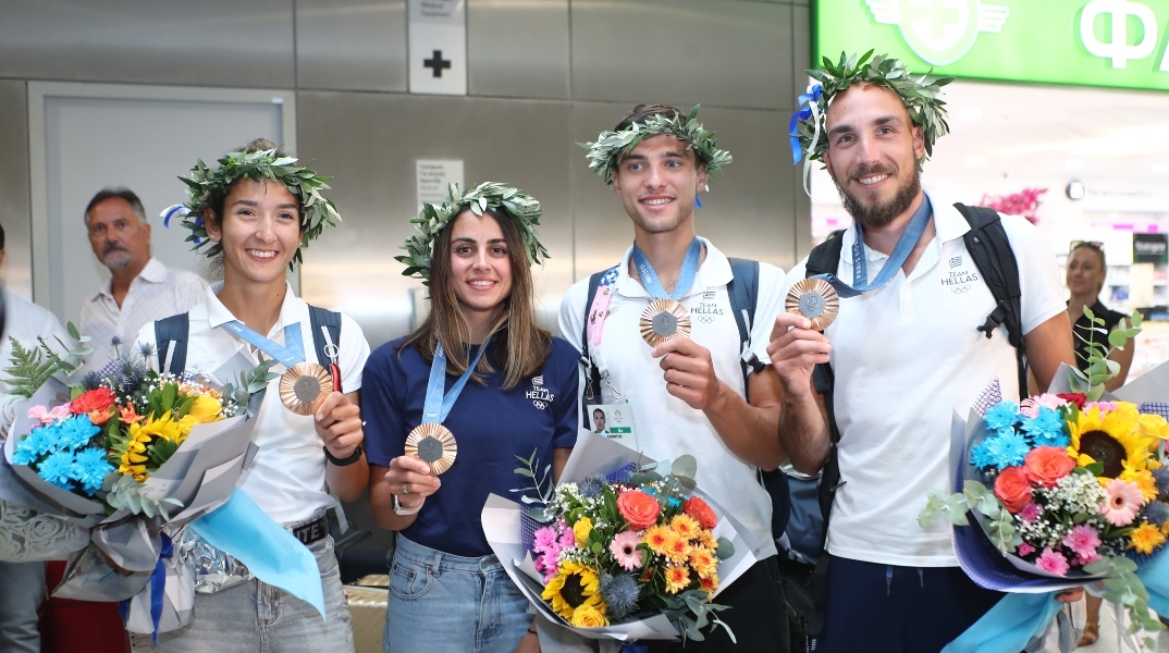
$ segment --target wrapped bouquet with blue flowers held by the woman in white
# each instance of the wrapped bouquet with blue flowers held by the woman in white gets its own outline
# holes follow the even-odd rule
[[[79,367],[76,350],[62,357],[43,339],[30,348],[13,341],[11,391],[29,401],[5,442],[0,500],[90,529],[55,596],[161,596],[178,574],[162,526],[223,505],[255,453],[249,412],[263,400],[254,393],[275,376],[271,362],[238,370],[238,387],[216,389],[202,376],[153,371],[152,355],[123,356],[68,387],[57,376]],[[157,627],[166,602],[153,603]]]

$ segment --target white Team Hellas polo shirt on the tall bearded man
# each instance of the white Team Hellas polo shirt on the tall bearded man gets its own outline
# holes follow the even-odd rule
[[[825,331],[832,343],[841,479],[829,525],[836,556],[904,567],[956,567],[949,525],[918,525],[931,488],[950,492],[950,416],[963,417],[994,378],[1018,400],[1015,349],[999,327],[976,327],[994,297],[967,252],[969,224],[953,202],[929,195],[936,236],[906,278],[841,301]],[[1039,230],[1003,216],[1018,260],[1023,332],[1066,311],[1054,253]],[[844,235],[837,276],[852,282],[852,243]],[[888,258],[864,248],[870,280]],[[783,291],[804,278],[800,262]]]

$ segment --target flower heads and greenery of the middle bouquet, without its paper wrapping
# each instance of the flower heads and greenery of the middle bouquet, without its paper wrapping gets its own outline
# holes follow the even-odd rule
[[[556,486],[531,546],[552,610],[582,628],[662,613],[698,640],[707,625],[727,627],[711,598],[733,547],[714,535],[719,517],[693,494],[692,474],[625,467]]]

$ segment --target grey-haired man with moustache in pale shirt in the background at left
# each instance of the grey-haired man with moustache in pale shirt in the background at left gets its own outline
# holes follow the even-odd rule
[[[105,188],[85,207],[94,255],[110,269],[110,283],[81,308],[81,332],[92,338],[98,366],[118,356],[143,326],[187,312],[205,297],[206,282],[162,265],[150,253],[150,224],[129,188]]]

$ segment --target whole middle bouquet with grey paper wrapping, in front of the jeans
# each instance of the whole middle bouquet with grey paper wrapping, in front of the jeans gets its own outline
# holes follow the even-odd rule
[[[540,614],[592,639],[701,640],[703,628],[726,627],[726,606],[712,599],[755,558],[742,529],[696,488],[693,457],[656,464],[582,436],[555,487],[547,467],[537,479],[539,464],[520,461],[532,486],[516,492],[537,496],[521,496],[525,510],[492,495],[483,526]]]

